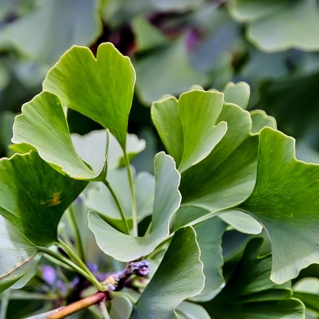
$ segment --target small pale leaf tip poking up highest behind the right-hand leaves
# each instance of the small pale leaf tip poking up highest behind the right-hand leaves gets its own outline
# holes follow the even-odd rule
[[[229,82],[223,89],[224,101],[226,103],[234,103],[242,107],[247,108],[249,97],[250,97],[250,87],[246,82],[238,82],[234,84]]]

